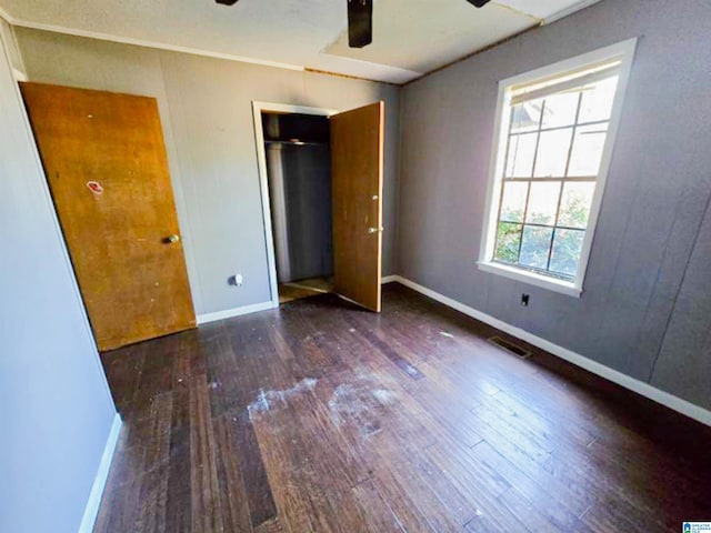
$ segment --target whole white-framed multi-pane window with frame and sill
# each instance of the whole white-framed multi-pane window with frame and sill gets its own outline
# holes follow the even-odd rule
[[[500,83],[480,269],[580,295],[634,47]]]

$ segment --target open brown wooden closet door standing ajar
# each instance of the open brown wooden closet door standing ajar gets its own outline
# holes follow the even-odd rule
[[[331,117],[336,292],[380,312],[384,103]]]

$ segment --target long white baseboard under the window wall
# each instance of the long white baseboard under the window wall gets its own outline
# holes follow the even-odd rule
[[[697,420],[702,424],[711,425],[711,411],[688,402],[687,400],[682,400],[681,398],[674,396],[673,394],[661,391],[650,385],[649,383],[635,380],[634,378],[605,366],[604,364],[600,364],[591,359],[585,358],[584,355],[580,355],[579,353],[568,350],[567,348],[559,346],[558,344],[547,341],[545,339],[541,339],[540,336],[529,333],[525,330],[508,324],[507,322],[503,322],[487,313],[470,308],[469,305],[440,294],[439,292],[428,289],[427,286],[420,285],[414,281],[408,280],[407,278],[402,278],[401,275],[392,275],[389,278],[392,278],[392,281],[402,283],[403,285],[409,286],[410,289],[424,294],[432,300],[437,300],[438,302],[443,303],[447,306],[455,309],[457,311],[460,311],[473,319],[484,322],[501,331],[504,331],[510,335],[515,336],[517,339],[521,339],[522,341],[538,346],[541,350],[545,350],[547,352],[550,352],[553,355],[559,356],[560,359],[564,359],[565,361],[573,363],[574,365],[580,366],[589,372],[592,372],[593,374],[600,375],[605,380],[617,383],[624,389],[637,392],[642,396],[645,396],[657,403],[660,403],[669,409],[672,409],[681,414]]]

